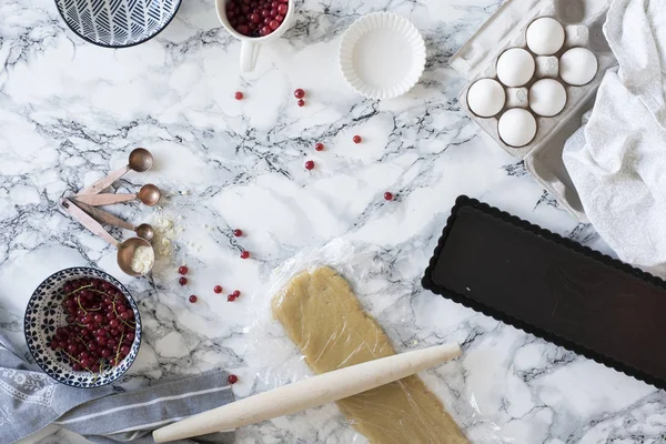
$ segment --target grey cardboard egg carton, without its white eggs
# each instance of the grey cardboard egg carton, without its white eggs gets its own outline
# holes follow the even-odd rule
[[[583,114],[593,107],[604,73],[617,64],[602,32],[609,3],[610,0],[507,0],[451,58],[451,65],[468,81],[458,95],[462,108],[504,151],[523,159],[527,171],[563,208],[583,222],[586,222],[587,218],[562,161],[562,151],[569,135],[581,127]],[[527,27],[541,17],[551,17],[564,27],[564,46],[554,56],[537,56],[527,48]],[[574,47],[587,48],[597,58],[598,68],[594,79],[582,87],[567,84],[558,73],[559,57]],[[535,74],[521,88],[505,87],[504,109],[495,117],[481,118],[470,110],[467,91],[480,79],[500,81],[496,75],[497,58],[509,48],[523,48],[535,58]],[[527,91],[534,82],[543,78],[554,78],[564,85],[567,93],[564,109],[551,118],[533,112],[537,130],[528,144],[514,148],[504,143],[497,132],[500,117],[511,108],[525,108],[531,111]]]

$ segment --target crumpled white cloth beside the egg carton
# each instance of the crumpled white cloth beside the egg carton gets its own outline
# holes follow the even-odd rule
[[[606,72],[589,121],[567,141],[566,169],[589,221],[618,256],[666,264],[666,0],[614,0]]]

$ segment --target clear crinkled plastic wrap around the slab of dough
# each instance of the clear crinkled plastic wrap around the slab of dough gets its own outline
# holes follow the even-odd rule
[[[289,337],[281,323],[273,317],[272,301],[299,273],[322,265],[329,265],[344,276],[356,295],[357,303],[365,313],[382,325],[390,340],[389,346],[396,352],[450,342],[446,337],[434,337],[434,342],[414,339],[411,297],[405,296],[412,294],[414,289],[402,287],[386,279],[392,268],[396,265],[392,262],[391,254],[379,246],[334,240],[295,254],[274,270],[265,291],[252,295],[251,305],[256,315],[246,334],[251,337],[254,350],[248,357],[256,357],[254,361],[246,360],[246,363],[256,371],[255,392],[271,390],[313,374],[306,364],[306,356]],[[418,279],[421,269],[418,264],[416,272]],[[420,295],[420,297],[430,296],[432,295],[426,292]],[[461,384],[461,381],[464,381],[462,373],[461,362],[454,361],[420,375],[426,387],[444,404],[445,410],[472,442],[475,444],[515,442],[511,433],[506,433],[481,413],[471,387]],[[444,380],[443,374],[454,374],[456,381]],[[423,384],[421,377],[415,380]],[[354,424],[345,420],[335,404],[303,412],[290,417],[289,421],[275,418],[272,422],[279,428],[285,428],[287,436],[303,442],[324,442],[327,436],[331,438],[334,436],[334,441],[341,443],[367,442],[365,436],[353,428]]]

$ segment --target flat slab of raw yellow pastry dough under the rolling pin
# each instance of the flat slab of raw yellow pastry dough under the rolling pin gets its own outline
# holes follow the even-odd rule
[[[323,266],[296,275],[273,300],[273,315],[315,373],[395,354],[347,282]],[[372,443],[462,444],[467,440],[416,375],[337,402]]]

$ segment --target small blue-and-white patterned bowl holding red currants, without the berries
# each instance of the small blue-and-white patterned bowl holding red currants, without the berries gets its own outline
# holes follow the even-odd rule
[[[72,370],[67,357],[60,351],[51,350],[48,343],[48,337],[56,333],[56,329],[67,323],[67,315],[62,307],[62,301],[64,300],[62,286],[72,280],[91,278],[101,279],[118,287],[132,307],[134,321],[137,322],[134,342],[130,349],[130,354],[119,365],[97,374]],[[99,387],[118,380],[130,369],[130,365],[137,359],[139,346],[141,345],[141,317],[139,316],[139,307],[128,290],[113,276],[103,271],[85,266],[65,269],[51,274],[34,290],[26,309],[23,331],[26,333],[28,350],[30,350],[32,357],[41,370],[56,381],[73,387]]]

